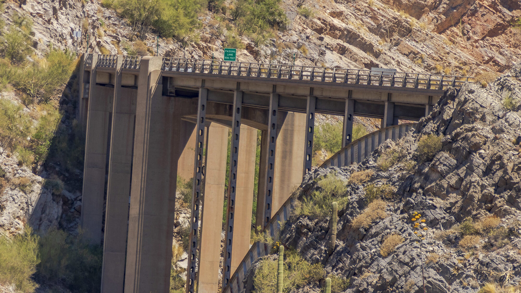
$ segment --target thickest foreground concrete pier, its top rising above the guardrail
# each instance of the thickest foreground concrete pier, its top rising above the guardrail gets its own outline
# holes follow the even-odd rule
[[[177,160],[193,124],[190,100],[162,95],[162,58],[141,60],[136,109],[125,293],[168,292]]]

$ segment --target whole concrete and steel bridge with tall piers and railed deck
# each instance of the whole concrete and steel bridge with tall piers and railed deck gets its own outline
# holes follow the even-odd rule
[[[346,146],[354,115],[380,118],[382,127],[418,120],[444,89],[467,80],[84,54],[78,113],[86,131],[81,226],[93,243],[103,243],[102,292],[168,292],[178,175],[194,182],[187,292],[232,290],[231,277],[251,251],[255,168],[255,222],[266,227],[311,170],[315,113],[344,117]],[[257,130],[262,131],[259,166]]]

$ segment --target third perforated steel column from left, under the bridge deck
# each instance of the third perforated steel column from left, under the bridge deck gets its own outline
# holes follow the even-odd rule
[[[273,178],[275,175],[275,146],[277,142],[277,114],[279,112],[279,95],[270,94],[269,99],[269,118],[268,118],[268,153],[266,156],[266,179],[264,189],[264,221],[263,227],[268,225],[271,219],[271,202],[273,200]]]

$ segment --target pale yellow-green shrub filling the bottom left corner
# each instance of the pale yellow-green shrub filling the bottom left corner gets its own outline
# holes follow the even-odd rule
[[[14,284],[17,292],[34,292],[37,285],[31,277],[39,261],[38,237],[30,228],[12,239],[0,235],[0,284]]]

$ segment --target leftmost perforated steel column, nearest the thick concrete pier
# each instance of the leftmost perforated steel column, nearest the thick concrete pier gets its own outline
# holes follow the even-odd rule
[[[201,182],[203,170],[204,126],[206,124],[206,99],[208,90],[199,90],[197,105],[197,127],[195,135],[194,182],[192,193],[192,216],[190,230],[190,254],[188,258],[187,293],[195,292],[197,250],[199,250],[199,214],[201,205]]]

